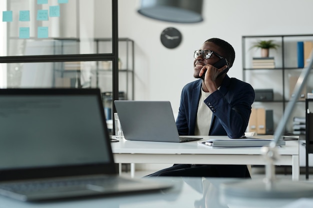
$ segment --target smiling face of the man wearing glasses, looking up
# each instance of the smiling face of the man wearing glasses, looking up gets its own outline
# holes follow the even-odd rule
[[[203,45],[199,48],[200,50],[211,50],[216,52],[217,54],[221,54],[220,47],[212,42],[204,42]],[[193,61],[193,77],[194,78],[200,78],[199,72],[201,68],[206,65],[214,65],[220,58],[216,56],[214,53],[210,56],[208,59],[204,59],[202,55],[197,56]]]

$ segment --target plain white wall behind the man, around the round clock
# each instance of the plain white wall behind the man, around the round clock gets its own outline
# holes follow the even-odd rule
[[[178,112],[182,87],[193,81],[192,52],[208,38],[228,41],[236,51],[230,77],[242,79],[241,36],[313,33],[312,0],[203,0],[204,21],[181,24],[136,12],[139,0],[118,0],[119,37],[135,42],[135,100],[169,100]],[[166,49],[159,35],[173,26],[183,35]]]

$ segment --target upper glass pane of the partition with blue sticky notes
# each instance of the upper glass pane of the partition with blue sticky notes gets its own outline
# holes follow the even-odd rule
[[[8,0],[2,23],[4,56],[94,54],[96,38],[112,38],[112,1]]]

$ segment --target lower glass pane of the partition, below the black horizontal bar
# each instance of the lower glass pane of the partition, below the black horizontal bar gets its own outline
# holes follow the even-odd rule
[[[106,119],[112,119],[112,61],[0,63],[0,69],[7,77],[1,88],[100,88]],[[133,99],[132,73],[118,70],[118,100]]]

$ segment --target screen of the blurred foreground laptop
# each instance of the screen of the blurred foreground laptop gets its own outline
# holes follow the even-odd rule
[[[0,170],[110,163],[95,95],[0,95]]]

